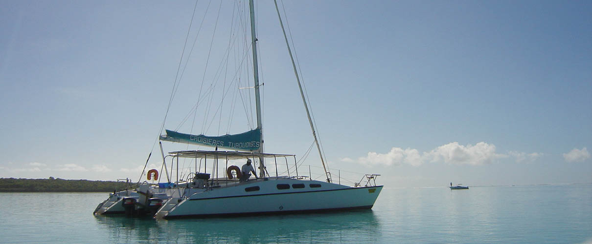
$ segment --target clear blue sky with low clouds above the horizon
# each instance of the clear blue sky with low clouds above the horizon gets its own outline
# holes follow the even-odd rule
[[[0,177],[138,178],[194,4],[0,2]],[[284,4],[330,168],[382,174],[387,187],[592,181],[591,2]],[[197,6],[189,43],[208,11],[168,129],[229,41],[233,2]],[[303,155],[312,137],[273,2],[257,8],[265,149]],[[208,134],[249,129],[235,108]],[[201,115],[179,132],[204,128]],[[304,164],[320,166],[314,151]]]

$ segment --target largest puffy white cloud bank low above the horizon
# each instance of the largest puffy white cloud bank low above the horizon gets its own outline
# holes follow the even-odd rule
[[[423,152],[421,154],[417,149],[402,149],[395,147],[391,148],[391,151],[387,152],[386,154],[368,152],[366,157],[360,157],[358,158],[358,161],[362,164],[370,165],[409,164],[413,166],[419,166],[425,162],[481,165],[491,163],[498,158],[504,157],[507,157],[507,155],[497,154],[496,146],[493,144],[479,142],[475,145],[468,144],[464,146],[459,145],[458,142],[451,142],[449,144],[432,149],[432,151]],[[349,158],[342,159],[342,161],[345,160],[349,160]]]

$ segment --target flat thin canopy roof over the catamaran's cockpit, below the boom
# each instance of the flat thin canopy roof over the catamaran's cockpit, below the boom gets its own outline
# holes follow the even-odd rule
[[[293,154],[264,154],[262,152],[237,152],[237,151],[175,151],[169,152],[172,157],[181,158],[226,158],[229,160],[240,160],[243,158],[276,158],[276,157],[295,157]]]

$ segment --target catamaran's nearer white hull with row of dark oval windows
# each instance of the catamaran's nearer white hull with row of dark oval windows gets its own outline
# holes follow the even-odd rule
[[[382,186],[348,187],[322,181],[259,180],[193,194],[171,203],[175,206],[163,207],[168,211],[159,212],[156,217],[175,219],[371,209],[381,190]]]

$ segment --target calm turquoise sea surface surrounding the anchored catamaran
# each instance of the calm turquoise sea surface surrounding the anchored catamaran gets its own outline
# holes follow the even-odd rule
[[[236,219],[93,216],[107,196],[0,193],[0,243],[592,243],[592,184],[384,188],[372,210]]]

